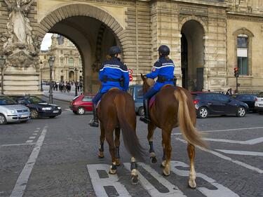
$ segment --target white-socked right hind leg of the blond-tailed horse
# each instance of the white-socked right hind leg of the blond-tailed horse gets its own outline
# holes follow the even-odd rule
[[[187,153],[190,159],[190,173],[188,184],[192,189],[194,189],[196,188],[196,170],[194,169],[194,158],[196,156],[196,151],[193,144],[188,144]]]

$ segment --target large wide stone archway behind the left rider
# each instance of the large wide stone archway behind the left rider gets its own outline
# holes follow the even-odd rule
[[[88,28],[89,25],[94,28]],[[106,28],[102,34],[103,25]],[[119,22],[106,11],[87,4],[73,4],[57,8],[43,18],[39,26],[39,37],[42,40],[48,32],[62,34],[76,45],[82,57],[84,90],[86,93],[94,93],[99,88],[95,70],[100,67],[110,46],[118,45],[123,48],[123,31]],[[97,36],[98,32],[100,37]],[[97,43],[102,46],[97,46]],[[100,55],[96,54],[97,48],[104,48]],[[102,59],[98,61],[97,57]]]

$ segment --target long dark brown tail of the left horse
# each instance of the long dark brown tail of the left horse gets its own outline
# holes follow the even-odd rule
[[[134,106],[131,105],[133,109],[130,109],[131,107],[128,106],[126,96],[123,94],[117,95],[114,102],[116,104],[117,117],[123,133],[124,146],[131,156],[134,156],[140,161],[144,161],[144,149],[138,140],[135,128],[132,126],[133,123],[129,122],[129,120],[133,118],[128,117],[130,113],[133,113],[131,111],[134,111]],[[136,127],[136,115],[131,114],[130,116],[135,116],[134,124]]]

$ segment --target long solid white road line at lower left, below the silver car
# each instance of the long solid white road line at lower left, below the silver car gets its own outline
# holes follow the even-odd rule
[[[22,197],[23,196],[25,189],[27,187],[29,176],[34,167],[34,163],[36,163],[36,158],[37,156],[39,156],[39,151],[45,139],[46,132],[47,132],[47,127],[45,126],[42,130],[41,135],[39,136],[39,140],[37,140],[36,145],[34,146],[32,154],[29,156],[29,159],[27,163],[25,164],[25,167],[23,168],[22,172],[20,173],[15,183],[15,187],[13,188],[13,191],[10,197]]]

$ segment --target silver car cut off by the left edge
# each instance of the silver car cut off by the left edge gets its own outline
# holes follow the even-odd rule
[[[27,122],[30,111],[27,107],[17,104],[11,97],[0,96],[0,125],[14,122]]]

